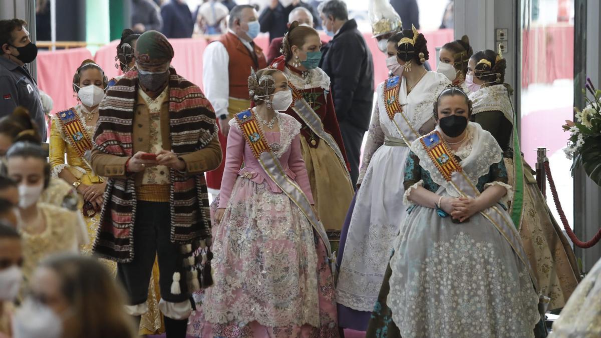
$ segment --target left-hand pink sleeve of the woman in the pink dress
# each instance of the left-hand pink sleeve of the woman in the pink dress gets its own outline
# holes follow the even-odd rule
[[[225,150],[224,174],[221,178],[221,191],[219,192],[219,208],[227,207],[227,202],[230,200],[231,191],[234,188],[234,183],[236,183],[240,165],[242,165],[246,144],[238,127],[231,125],[231,123],[230,126],[227,149]]]

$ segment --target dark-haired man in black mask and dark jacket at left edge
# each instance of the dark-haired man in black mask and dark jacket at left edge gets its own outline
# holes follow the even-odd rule
[[[0,117],[17,106],[27,108],[45,141],[46,119],[40,92],[25,68],[37,56],[37,47],[29,40],[26,26],[21,19],[0,20]]]

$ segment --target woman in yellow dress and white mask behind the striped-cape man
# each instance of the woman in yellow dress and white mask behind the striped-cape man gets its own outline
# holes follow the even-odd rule
[[[63,179],[81,196],[78,210],[84,215],[88,229],[88,244],[82,245],[84,254],[92,254],[92,246],[99,226],[100,207],[106,182],[91,169],[87,157],[92,147],[92,137],[98,121],[98,106],[105,96],[108,84],[103,69],[92,60],[85,60],[73,76],[73,90],[78,94],[79,105],[58,112],[52,117],[50,127],[49,161],[52,177]],[[65,161],[66,159],[66,161]],[[115,275],[115,262],[103,260]],[[157,300],[159,289],[155,282],[158,269],[148,290],[148,312],[140,322],[141,335],[162,333],[162,318]]]

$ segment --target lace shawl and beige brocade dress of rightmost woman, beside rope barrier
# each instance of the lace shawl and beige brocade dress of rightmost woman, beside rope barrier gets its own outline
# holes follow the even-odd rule
[[[472,120],[489,131],[505,150],[504,162],[508,182],[515,186],[514,156],[511,146],[513,109],[504,85],[484,87],[470,94],[474,103]],[[521,157],[521,156],[520,156]],[[523,210],[517,229],[528,260],[534,269],[538,289],[551,298],[548,310],[560,309],[566,304],[580,281],[576,256],[547,201],[532,176],[532,168],[523,161]],[[508,202],[508,207],[513,201]]]

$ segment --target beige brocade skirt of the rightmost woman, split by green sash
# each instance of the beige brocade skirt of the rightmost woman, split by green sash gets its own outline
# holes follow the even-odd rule
[[[508,180],[514,186],[513,159],[505,158]],[[576,256],[524,162],[524,207],[519,233],[542,295],[551,298],[548,310],[566,304],[580,281]]]

